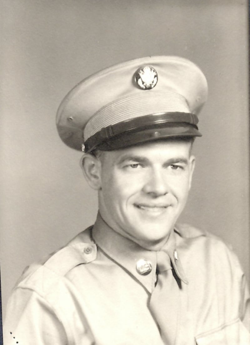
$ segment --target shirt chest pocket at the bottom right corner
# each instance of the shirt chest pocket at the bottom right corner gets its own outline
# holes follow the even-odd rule
[[[240,319],[196,337],[197,345],[249,345],[250,334]]]

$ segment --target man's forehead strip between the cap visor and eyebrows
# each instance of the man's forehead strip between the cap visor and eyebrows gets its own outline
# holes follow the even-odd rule
[[[128,159],[133,157],[144,157],[147,159],[161,159],[162,157],[187,157],[190,154],[191,142],[169,139],[169,140],[159,140],[154,142],[148,142],[141,145],[130,146],[128,148],[104,151],[104,159],[108,161],[117,161],[122,157],[127,157]]]

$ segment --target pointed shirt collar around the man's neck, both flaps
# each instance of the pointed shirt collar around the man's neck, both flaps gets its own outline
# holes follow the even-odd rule
[[[109,227],[99,213],[96,223],[93,226],[92,238],[106,255],[126,269],[127,272],[136,278],[149,293],[152,293],[156,279],[157,252],[144,249],[137,243],[118,234]],[[184,275],[180,259],[178,258],[174,231],[171,231],[169,239],[162,250],[166,251],[169,255],[177,276],[187,284],[187,279]],[[148,275],[141,275],[137,272],[136,266],[140,259],[144,259],[151,263],[152,270]]]

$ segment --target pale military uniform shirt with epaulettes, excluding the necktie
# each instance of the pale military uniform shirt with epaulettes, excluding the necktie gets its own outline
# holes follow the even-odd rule
[[[175,344],[250,344],[249,295],[237,257],[196,228],[176,226],[173,234],[170,258],[181,282]],[[140,259],[151,262],[148,275],[138,273]],[[98,215],[93,227],[23,273],[8,302],[4,345],[163,345],[149,309],[155,283],[156,252]]]

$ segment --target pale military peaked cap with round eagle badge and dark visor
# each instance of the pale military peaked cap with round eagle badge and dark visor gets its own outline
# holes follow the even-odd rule
[[[130,60],[94,73],[68,93],[57,112],[58,133],[85,152],[201,136],[197,115],[207,93],[205,76],[187,59]]]

